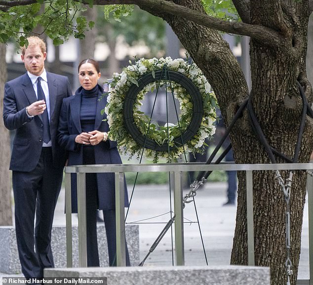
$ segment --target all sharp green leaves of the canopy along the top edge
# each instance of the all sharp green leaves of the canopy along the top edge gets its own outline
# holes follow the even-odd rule
[[[83,39],[84,32],[95,25],[80,14],[88,6],[92,7],[93,0],[88,3],[82,4],[81,0],[37,0],[34,4],[0,10],[0,42],[13,39],[23,46],[26,37],[38,26],[41,28],[37,29],[37,34],[45,33],[55,45],[67,41],[70,36]],[[202,0],[202,3],[209,15],[228,21],[239,20],[232,0]],[[120,22],[133,10],[134,5],[106,5],[104,17]]]

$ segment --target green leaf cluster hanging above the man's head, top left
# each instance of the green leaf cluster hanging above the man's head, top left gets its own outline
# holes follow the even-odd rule
[[[89,2],[91,6],[93,1]],[[34,4],[0,11],[0,42],[13,39],[23,46],[25,38],[38,26],[41,28],[37,33],[45,33],[55,45],[67,41],[70,36],[83,39],[84,32],[94,26],[94,22],[78,16],[78,11],[86,10],[86,7],[74,0],[37,0]]]

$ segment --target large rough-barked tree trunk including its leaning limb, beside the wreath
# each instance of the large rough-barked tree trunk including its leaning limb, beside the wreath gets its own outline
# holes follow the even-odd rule
[[[175,0],[198,11],[200,1]],[[302,100],[297,80],[304,86],[311,102],[312,87],[306,76],[308,0],[251,0],[251,24],[279,31],[285,41],[276,48],[268,42],[251,41],[252,105],[265,137],[277,151],[293,159],[300,125]],[[273,4],[273,2],[275,4]],[[276,6],[277,5],[277,6]],[[261,8],[260,8],[261,7]],[[143,9],[165,19],[172,27],[217,96],[226,124],[231,122],[238,106],[247,98],[248,88],[242,71],[228,44],[218,32],[179,17],[163,14],[151,7]],[[312,102],[311,102],[312,103]],[[306,118],[299,163],[308,162],[313,146],[312,119]],[[271,163],[268,154],[250,126],[247,112],[231,132],[236,163]],[[276,158],[277,163],[284,163]],[[281,171],[284,180],[287,174]],[[238,203],[232,264],[247,264],[247,225],[245,176],[238,174]],[[271,267],[272,285],[286,284],[285,198],[273,171],[254,171],[255,264]],[[291,212],[291,284],[296,284],[300,258],[301,230],[305,204],[306,174],[293,176]]]

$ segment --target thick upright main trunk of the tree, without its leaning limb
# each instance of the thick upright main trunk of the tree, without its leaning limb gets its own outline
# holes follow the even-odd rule
[[[289,1],[287,1],[289,2]],[[284,5],[284,4],[282,4]],[[280,11],[280,17],[273,13]],[[279,14],[279,13],[277,13]],[[311,98],[311,85],[306,76],[307,23],[309,18],[308,1],[301,4],[276,7],[271,2],[251,1],[252,24],[281,30],[285,41],[277,49],[269,48],[263,42],[250,42],[252,92],[251,100],[258,121],[270,145],[276,150],[293,159],[295,145],[300,126],[302,99],[296,81],[304,86],[307,97]],[[292,20],[291,20],[292,19]],[[264,64],[264,63],[267,64]],[[238,134],[237,134],[238,136]],[[236,151],[236,160],[246,163],[270,163],[264,147],[255,140],[254,135],[242,136],[243,149]],[[302,136],[299,163],[309,161],[312,151],[312,119],[307,118]],[[242,141],[241,141],[242,144]],[[235,141],[234,146],[237,145]],[[277,163],[283,163],[276,158]],[[287,173],[283,175],[286,181]],[[254,186],[254,234],[256,265],[271,266],[272,284],[286,281],[286,242],[285,242],[285,211],[286,204],[283,192],[278,185],[274,172],[256,172]],[[242,174],[239,181],[244,181]],[[240,183],[242,184],[242,183]],[[242,189],[240,187],[240,190]],[[291,251],[295,284],[301,247],[301,229],[303,208],[305,203],[306,174],[296,171],[293,176],[290,213],[291,213]],[[246,219],[245,192],[238,193],[238,210],[232,261],[242,262],[247,259],[246,250]],[[239,226],[240,225],[240,226]],[[245,237],[242,239],[242,237]],[[244,262],[244,263],[245,263]]]

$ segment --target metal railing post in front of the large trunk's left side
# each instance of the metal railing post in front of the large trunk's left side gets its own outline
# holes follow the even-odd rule
[[[254,222],[252,170],[246,170],[248,265],[254,266]]]

